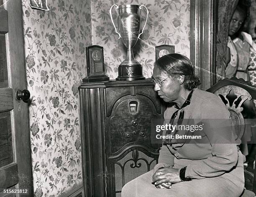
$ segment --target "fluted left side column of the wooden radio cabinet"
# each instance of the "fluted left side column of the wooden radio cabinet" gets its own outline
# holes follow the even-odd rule
[[[94,179],[94,175],[106,174],[105,147],[102,139],[105,128],[102,117],[105,90],[103,88],[79,89],[79,95],[84,195],[96,193],[100,197],[105,197],[107,195],[102,188],[105,188],[106,177]],[[98,103],[98,105],[94,106],[92,103]],[[93,157],[95,152],[97,157]]]

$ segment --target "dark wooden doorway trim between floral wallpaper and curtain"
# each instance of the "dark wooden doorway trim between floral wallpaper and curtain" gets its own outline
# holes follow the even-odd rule
[[[201,90],[215,83],[216,11],[216,0],[190,1],[190,59]]]

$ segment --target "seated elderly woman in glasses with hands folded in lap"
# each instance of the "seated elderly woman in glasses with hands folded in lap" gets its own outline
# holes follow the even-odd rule
[[[163,142],[154,170],[128,182],[121,196],[239,197],[244,188],[244,156],[236,141],[223,140],[223,136],[232,133],[230,114],[223,102],[197,88],[200,81],[184,55],[174,53],[159,58],[152,81],[159,97],[170,103],[164,113],[166,121],[208,120],[210,126],[203,129],[202,143]],[[212,120],[220,120],[220,125],[228,120],[225,124],[229,125],[221,128],[216,125],[218,121]],[[218,135],[219,130],[223,135]]]

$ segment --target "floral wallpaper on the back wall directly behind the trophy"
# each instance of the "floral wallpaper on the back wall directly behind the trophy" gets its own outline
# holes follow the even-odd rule
[[[104,48],[105,73],[110,79],[118,76],[118,65],[125,60],[126,51],[110,19],[110,7],[137,4],[148,8],[148,21],[134,47],[135,59],[143,67],[143,76],[151,77],[155,59],[155,46],[175,45],[175,52],[189,57],[189,8],[190,0],[92,0],[92,43]],[[113,9],[113,20],[117,27],[117,14]],[[142,8],[143,10],[143,8]],[[142,24],[146,11],[140,12]]]

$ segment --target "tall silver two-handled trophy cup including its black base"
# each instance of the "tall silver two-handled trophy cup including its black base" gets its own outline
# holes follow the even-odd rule
[[[112,18],[112,8],[115,7],[115,10],[118,14],[118,30],[117,31],[113,18]],[[146,26],[148,20],[148,9],[147,10],[147,17],[145,25],[141,30],[141,17],[138,14],[138,11],[145,7],[145,5],[112,5],[110,7],[110,17],[111,21],[115,27],[115,32],[121,38],[125,47],[127,47],[127,55],[126,59],[119,65],[118,67],[118,77],[116,80],[118,81],[133,81],[133,80],[144,80],[142,74],[142,66],[141,64],[136,61],[133,57],[133,47],[136,45],[140,35],[143,33],[143,30]]]

